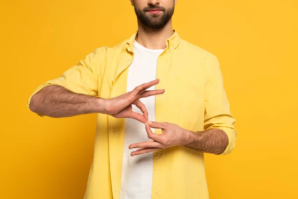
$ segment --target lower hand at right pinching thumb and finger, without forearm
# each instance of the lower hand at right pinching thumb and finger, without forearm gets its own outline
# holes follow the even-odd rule
[[[160,128],[163,134],[158,135],[153,133],[150,127]],[[145,123],[145,128],[148,137],[153,141],[139,142],[129,145],[129,149],[139,148],[137,151],[133,151],[131,156],[149,153],[156,149],[165,149],[173,146],[183,145],[186,139],[186,130],[177,124],[148,120]]]

